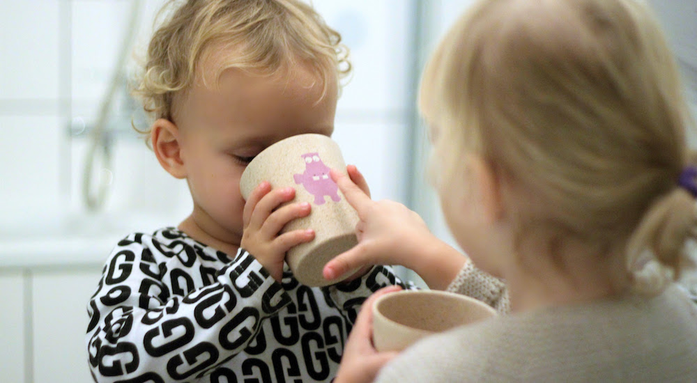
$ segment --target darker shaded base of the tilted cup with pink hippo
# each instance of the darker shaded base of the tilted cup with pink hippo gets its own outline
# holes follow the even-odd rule
[[[344,234],[337,237],[332,237],[319,244],[314,244],[314,247],[307,250],[302,256],[294,256],[293,252],[289,252],[286,261],[291,267],[294,276],[298,282],[305,286],[320,287],[329,286],[334,283],[343,281],[358,271],[358,269],[350,270],[335,279],[324,279],[322,270],[332,258],[347,251],[358,244],[355,239],[355,234]],[[312,242],[305,245],[313,245]],[[291,249],[292,250],[292,249]]]

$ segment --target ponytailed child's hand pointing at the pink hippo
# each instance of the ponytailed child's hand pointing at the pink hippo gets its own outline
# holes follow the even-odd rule
[[[325,265],[326,279],[366,265],[402,265],[431,288],[450,284],[467,258],[431,234],[419,214],[395,201],[372,201],[342,173],[332,170],[331,176],[358,212],[358,244]]]

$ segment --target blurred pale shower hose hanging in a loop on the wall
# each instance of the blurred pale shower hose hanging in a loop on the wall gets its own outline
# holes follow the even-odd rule
[[[90,211],[98,211],[104,206],[107,201],[109,190],[112,187],[113,142],[111,135],[107,132],[107,123],[109,121],[109,114],[112,111],[114,95],[116,95],[118,87],[123,84],[125,63],[135,39],[140,9],[141,0],[132,0],[128,17],[128,26],[126,26],[123,40],[121,40],[121,49],[116,58],[117,61],[114,72],[112,73],[111,83],[109,84],[105,97],[102,99],[97,123],[91,132],[89,132],[90,143],[85,157],[82,177],[82,196],[87,205],[87,209]],[[101,164],[98,164],[99,159],[101,159]],[[96,180],[94,178],[95,174],[93,173],[95,167],[101,169]]]

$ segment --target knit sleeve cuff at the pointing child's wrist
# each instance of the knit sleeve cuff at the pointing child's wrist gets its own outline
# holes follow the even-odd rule
[[[510,311],[506,284],[501,279],[477,269],[471,262],[465,263],[445,290],[479,299],[496,308],[498,313]]]

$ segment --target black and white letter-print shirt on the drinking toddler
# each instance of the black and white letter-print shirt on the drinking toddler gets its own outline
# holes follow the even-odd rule
[[[406,287],[383,266],[323,288],[287,270],[278,283],[243,249],[230,260],[176,228],[134,233],[89,302],[89,366],[96,382],[330,382],[360,304],[393,284]]]

